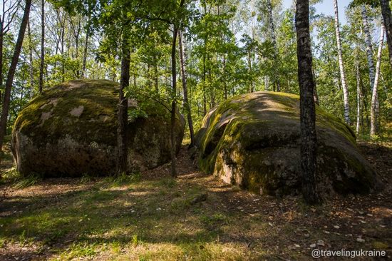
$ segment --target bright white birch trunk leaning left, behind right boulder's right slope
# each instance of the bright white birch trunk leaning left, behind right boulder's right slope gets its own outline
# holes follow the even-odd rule
[[[335,9],[336,44],[338,47],[341,86],[343,88],[344,121],[346,121],[347,124],[350,124],[349,88],[347,87],[346,74],[344,73],[344,63],[343,63],[343,53],[341,51],[341,39],[340,39],[340,29],[339,29],[339,12],[338,12],[338,1],[337,0],[334,0],[334,9]]]

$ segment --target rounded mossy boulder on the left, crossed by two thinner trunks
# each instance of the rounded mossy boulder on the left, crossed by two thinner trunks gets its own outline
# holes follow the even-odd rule
[[[128,101],[128,168],[155,168],[170,161],[170,112],[160,103]],[[118,83],[61,83],[34,98],[19,113],[11,138],[22,175],[45,177],[112,175],[117,154]],[[180,150],[185,121],[177,113]]]

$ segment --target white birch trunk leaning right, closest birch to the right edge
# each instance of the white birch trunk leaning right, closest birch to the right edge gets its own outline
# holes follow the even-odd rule
[[[378,44],[378,52],[377,52],[376,77],[374,78],[374,86],[371,95],[371,111],[370,111],[370,135],[371,136],[376,135],[378,133],[377,88],[378,88],[378,80],[380,78],[381,53],[383,51],[384,31],[385,31],[384,25],[381,24],[381,35]]]

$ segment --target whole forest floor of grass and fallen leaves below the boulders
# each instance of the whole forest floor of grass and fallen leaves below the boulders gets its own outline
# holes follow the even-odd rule
[[[319,207],[222,183],[200,173],[185,147],[177,179],[163,165],[128,180],[2,183],[0,260],[311,260],[314,248],[391,257],[391,147],[359,147],[386,189]]]

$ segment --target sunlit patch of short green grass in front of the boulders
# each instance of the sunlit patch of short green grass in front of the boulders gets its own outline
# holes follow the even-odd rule
[[[0,219],[0,244],[49,247],[52,260],[99,259],[98,254],[115,260],[244,257],[241,245],[219,242],[221,232],[214,227],[225,225],[225,214],[198,210],[202,203],[190,205],[205,193],[202,188],[179,188],[172,178],[135,177],[98,180],[88,190],[58,195],[51,204],[45,204],[52,200],[46,195],[26,198],[23,213]]]

